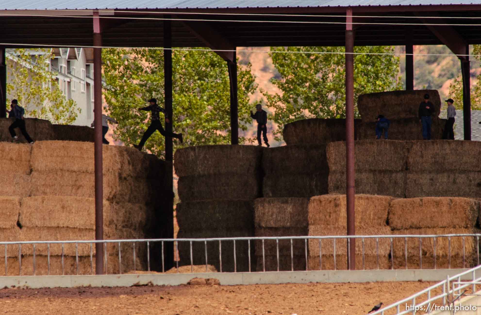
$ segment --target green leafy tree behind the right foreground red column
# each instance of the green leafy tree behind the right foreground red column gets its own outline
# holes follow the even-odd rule
[[[281,76],[271,81],[282,95],[266,91],[263,95],[267,106],[274,109],[269,116],[278,124],[274,131],[276,140],[281,139],[286,123],[306,118],[345,117],[343,52],[344,47],[271,47],[270,56]],[[362,54],[393,53],[394,47],[355,47],[354,52],[361,53],[354,56],[354,104],[360,94],[402,88],[398,57]]]

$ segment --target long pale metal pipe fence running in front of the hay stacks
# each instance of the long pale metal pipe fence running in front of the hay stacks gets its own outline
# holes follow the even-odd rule
[[[255,254],[257,258],[257,271],[279,271],[280,269],[286,269],[286,266],[291,271],[295,270],[323,270],[323,260],[325,259],[332,259],[334,262],[333,270],[337,269],[337,260],[340,259],[340,255],[347,254],[350,248],[350,240],[351,239],[360,239],[361,242],[357,242],[356,246],[356,256],[358,256],[357,261],[361,261],[359,267],[357,269],[366,269],[366,258],[369,256],[371,259],[373,255],[375,255],[376,267],[371,269],[380,269],[382,268],[380,264],[380,258],[386,259],[386,248],[388,248],[388,256],[390,261],[389,269],[397,269],[403,268],[408,269],[408,267],[413,267],[415,264],[415,268],[418,267],[420,269],[423,268],[423,257],[430,257],[433,260],[433,267],[436,269],[439,264],[437,264],[437,259],[439,258],[439,243],[443,241],[448,244],[447,249],[447,257],[444,254],[443,258],[448,260],[447,266],[445,268],[451,268],[451,253],[452,253],[452,241],[456,240],[457,244],[462,244],[462,266],[457,267],[471,267],[472,265],[479,265],[480,264],[480,248],[479,248],[479,238],[481,234],[444,234],[444,235],[353,235],[353,236],[282,236],[282,237],[228,237],[228,238],[186,238],[186,239],[131,239],[131,240],[101,240],[101,241],[32,241],[32,242],[0,242],[1,246],[4,247],[4,268],[5,276],[12,275],[12,272],[9,272],[9,258],[15,258],[15,264],[18,262],[18,274],[15,275],[22,275],[22,259],[28,255],[33,257],[32,264],[33,264],[33,275],[35,275],[38,271],[38,247],[40,245],[47,246],[47,275],[51,275],[51,258],[52,258],[52,246],[58,246],[59,244],[62,247],[61,250],[61,265],[62,265],[62,274],[65,274],[65,259],[67,257],[72,258],[74,254],[65,254],[65,247],[71,249],[71,246],[75,247],[75,267],[73,268],[73,274],[85,274],[85,258],[89,259],[89,269],[90,274],[93,274],[94,271],[94,252],[93,252],[93,244],[102,243],[103,244],[103,251],[104,251],[104,272],[106,274],[122,274],[127,269],[137,271],[138,266],[140,269],[146,269],[146,271],[151,271],[152,265],[157,266],[157,271],[165,272],[166,266],[175,266],[177,272],[179,272],[179,260],[165,261],[167,255],[166,251],[166,244],[170,243],[173,245],[173,248],[178,253],[179,248],[181,249],[188,249],[183,251],[183,253],[188,253],[188,256],[182,257],[181,266],[189,266],[190,270],[193,271],[194,265],[204,265],[205,264],[205,272],[207,272],[207,265],[209,263],[215,263],[217,269],[220,272],[252,272],[253,270],[253,254]],[[470,248],[466,248],[466,241],[471,239],[472,242],[469,242]],[[461,240],[461,241],[460,241]],[[279,242],[284,241],[284,244],[287,243],[286,246],[283,247],[283,251],[279,250]],[[404,241],[404,242],[403,242]],[[431,242],[430,242],[431,241]],[[273,255],[266,255],[266,242],[275,242],[275,254]],[[375,243],[375,254],[373,254],[373,250],[371,249],[369,253],[366,250],[366,243],[370,242],[372,245]],[[380,251],[380,242],[384,247],[384,253]],[[424,242],[424,246],[423,246]],[[430,242],[430,246],[427,244]],[[408,249],[408,243],[410,247]],[[414,243],[414,245],[413,245]],[[417,246],[418,243],[419,251],[415,255],[412,255],[413,246]],[[317,245],[318,244],[318,245]],[[215,245],[215,246],[214,246]],[[246,246],[247,245],[247,246]],[[32,252],[26,253],[25,247],[32,246]],[[83,252],[79,252],[79,246],[82,246]],[[85,252],[85,247],[89,249],[88,252]],[[115,248],[115,246],[117,248]],[[156,246],[156,248],[160,247],[159,251],[152,251],[152,246]],[[201,247],[199,247],[201,246]],[[342,250],[339,250],[339,247],[344,246]],[[374,246],[374,245],[372,245]],[[201,250],[193,251],[193,248]],[[203,247],[203,249],[202,249]],[[215,251],[218,250],[218,254],[212,254],[211,250],[215,247]],[[260,248],[262,248],[262,250]],[[311,251],[314,251],[314,247],[316,247],[316,251],[318,250],[318,254],[315,256],[310,255]],[[347,247],[347,250],[346,250]],[[473,248],[474,247],[474,248]],[[15,248],[18,249],[18,254],[11,254],[15,251]],[[24,248],[24,251],[23,251]],[[30,248],[30,247],[29,247]],[[255,253],[253,253],[253,248],[256,248]],[[374,247],[373,247],[374,248]],[[398,256],[395,256],[395,250]],[[445,250],[445,248],[444,248]],[[461,253],[460,249],[456,249],[457,253]],[[10,253],[10,254],[9,254]],[[42,252],[42,256],[45,256],[45,253]],[[70,253],[70,252],[69,252]],[[210,253],[210,254],[209,254]],[[295,253],[295,254],[294,254]],[[302,254],[301,254],[302,253]],[[411,253],[411,254],[408,254]],[[467,254],[468,253],[468,254]],[[171,253],[173,254],[173,253]],[[274,257],[272,257],[274,256]],[[58,258],[58,254],[56,255]],[[247,258],[246,258],[247,257]],[[274,270],[266,270],[266,258],[273,258],[274,265],[277,264],[277,268],[274,267]],[[82,258],[82,263],[80,262],[79,258]],[[286,259],[284,259],[286,258]],[[359,259],[360,258],[360,259]],[[394,260],[397,259],[397,265],[395,266]],[[458,259],[461,257],[458,255]],[[175,259],[175,258],[174,258]],[[281,259],[284,259],[281,262]],[[343,258],[344,259],[344,258]],[[347,254],[347,261],[346,265],[352,257]],[[111,261],[112,260],[112,261]],[[114,260],[118,260],[118,265]],[[305,260],[305,266],[304,266]],[[309,268],[309,261],[318,261],[318,268],[310,269]],[[400,262],[404,260],[404,266],[400,266]],[[409,260],[416,260],[416,262],[409,262]],[[418,260],[418,261],[417,261]],[[247,263],[245,264],[245,270],[243,267],[240,266],[239,262]],[[187,262],[187,263],[186,263]],[[199,263],[201,262],[201,263]],[[302,268],[299,267],[300,262],[302,262]],[[409,262],[409,264],[408,264]],[[109,265],[109,263],[111,265]],[[133,263],[133,265],[129,265]],[[290,263],[290,264],[289,264]],[[12,263],[10,263],[12,264]],[[83,271],[80,271],[80,265],[83,264]],[[416,265],[417,264],[417,265]],[[117,266],[115,266],[117,265]],[[127,266],[128,265],[128,266]],[[144,267],[142,267],[143,265]],[[123,267],[126,266],[126,267]],[[15,266],[16,267],[16,266]],[[72,266],[70,266],[72,267]],[[305,267],[305,268],[304,268]],[[426,267],[426,264],[424,264]],[[45,266],[43,266],[45,268]],[[386,268],[386,266],[384,266]],[[115,269],[115,270],[114,270]],[[31,270],[31,269],[29,269]],[[230,270],[230,271],[229,271]],[[127,270],[129,271],[129,270]],[[71,271],[69,271],[72,274]]]

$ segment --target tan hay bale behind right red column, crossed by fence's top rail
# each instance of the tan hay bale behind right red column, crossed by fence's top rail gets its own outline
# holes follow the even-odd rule
[[[389,227],[355,227],[356,235],[391,235]],[[309,236],[338,236],[346,235],[346,229],[342,226],[334,225],[310,225]],[[319,239],[310,239],[308,242],[309,256],[319,256]],[[356,254],[362,255],[363,246],[362,240],[356,239]],[[334,254],[334,239],[321,240],[322,254]],[[336,254],[346,254],[347,241],[346,239],[336,239]],[[391,241],[386,238],[379,239],[379,246],[376,248],[375,238],[364,239],[364,254],[365,255],[379,255],[387,256],[391,253]]]

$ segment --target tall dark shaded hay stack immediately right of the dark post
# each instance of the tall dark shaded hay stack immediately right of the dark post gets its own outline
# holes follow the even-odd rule
[[[178,238],[253,236],[253,200],[261,196],[262,148],[252,145],[206,145],[175,154]],[[222,271],[249,269],[248,243],[222,243]],[[193,244],[193,264],[205,264],[203,243]],[[190,265],[190,245],[179,242],[181,265]],[[224,255],[224,253],[226,253]],[[218,242],[207,244],[208,264],[220,270]],[[253,259],[253,246],[251,257]],[[251,261],[253,263],[253,260]]]

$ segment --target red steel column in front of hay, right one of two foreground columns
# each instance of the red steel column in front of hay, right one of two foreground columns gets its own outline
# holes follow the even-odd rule
[[[347,235],[355,235],[354,227],[354,31],[353,10],[346,11],[346,211]],[[354,270],[355,239],[350,239],[347,264]]]

